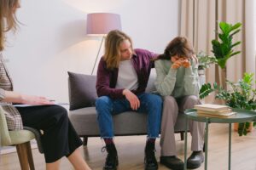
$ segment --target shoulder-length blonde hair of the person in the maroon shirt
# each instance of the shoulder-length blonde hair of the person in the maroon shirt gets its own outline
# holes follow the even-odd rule
[[[127,36],[122,31],[113,30],[108,32],[108,35],[105,41],[105,54],[103,56],[103,58],[107,63],[108,69],[118,68],[119,61],[121,59],[120,44],[125,40],[128,40],[129,42],[131,42],[131,37]],[[132,42],[131,42],[131,50],[133,52]]]

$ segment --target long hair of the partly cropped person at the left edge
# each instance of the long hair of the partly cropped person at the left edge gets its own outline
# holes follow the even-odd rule
[[[16,30],[17,19],[15,16],[15,7],[19,5],[19,0],[1,0],[0,1],[0,51],[4,48],[4,32]]]

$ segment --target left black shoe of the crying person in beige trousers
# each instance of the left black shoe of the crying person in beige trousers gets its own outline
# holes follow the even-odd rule
[[[160,163],[173,170],[183,170],[184,163],[177,156],[160,156]]]

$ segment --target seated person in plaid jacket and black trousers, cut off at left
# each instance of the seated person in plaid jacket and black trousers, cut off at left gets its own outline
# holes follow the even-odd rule
[[[16,9],[19,0],[0,0],[0,52],[4,49],[5,32],[15,31]],[[49,99],[20,94],[13,91],[13,83],[0,53],[0,104],[7,117],[9,130],[22,129],[23,126],[43,131],[41,139],[47,170],[60,169],[62,156],[77,170],[90,170],[80,153],[81,139],[75,132],[67,116],[67,110],[54,105]],[[18,107],[12,103],[32,106]],[[34,106],[33,106],[34,105]]]

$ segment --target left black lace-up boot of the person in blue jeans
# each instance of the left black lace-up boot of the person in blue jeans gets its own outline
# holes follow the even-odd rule
[[[103,170],[116,170],[119,165],[119,158],[117,155],[117,150],[114,144],[106,144],[106,149],[108,152],[108,156],[106,158],[105,166]],[[103,147],[102,149],[104,149]]]

